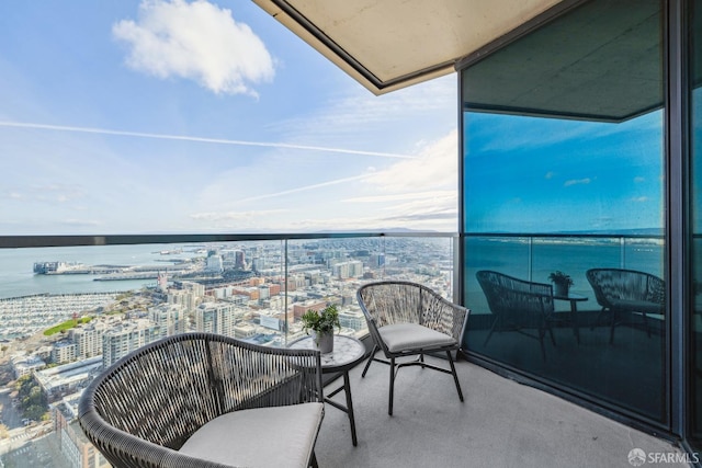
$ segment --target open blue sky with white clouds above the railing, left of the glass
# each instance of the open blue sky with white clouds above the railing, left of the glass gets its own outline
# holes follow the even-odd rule
[[[0,3],[0,232],[457,228],[455,73],[374,96],[250,1]]]

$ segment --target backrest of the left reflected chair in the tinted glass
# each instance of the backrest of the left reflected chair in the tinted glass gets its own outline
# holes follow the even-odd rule
[[[554,310],[553,286],[482,270],[475,274],[490,311],[496,315],[550,315]]]

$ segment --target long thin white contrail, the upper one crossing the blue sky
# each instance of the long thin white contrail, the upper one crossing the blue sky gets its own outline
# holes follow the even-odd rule
[[[218,145],[259,146],[259,147],[267,147],[267,148],[287,148],[287,149],[301,149],[301,150],[310,150],[310,151],[340,152],[344,155],[380,156],[383,158],[417,159],[417,157],[415,156],[398,155],[394,152],[361,151],[356,149],[328,148],[328,147],[321,147],[321,146],[307,146],[307,145],[292,145],[292,144],[285,144],[285,142],[244,141],[244,140],[231,140],[231,139],[224,139],[224,138],[190,137],[190,136],[182,136],[182,135],[145,134],[139,132],[123,132],[123,130],[111,130],[106,128],[91,128],[91,127],[70,127],[65,125],[32,124],[32,123],[24,123],[24,122],[0,122],[0,127],[37,128],[37,129],[46,129],[46,130],[79,132],[84,134],[117,135],[117,136],[129,136],[129,137],[139,137],[139,138],[212,142],[212,144],[218,144]]]

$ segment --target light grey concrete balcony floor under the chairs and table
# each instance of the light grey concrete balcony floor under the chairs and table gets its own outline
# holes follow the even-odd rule
[[[359,445],[351,443],[346,413],[327,406],[316,445],[319,466],[611,468],[631,467],[632,448],[683,453],[668,441],[475,364],[460,361],[456,368],[463,403],[450,375],[401,368],[393,416],[387,414],[388,366],[373,363],[365,378],[361,378],[363,365],[353,368],[350,384]],[[343,398],[343,392],[333,397],[339,402]],[[646,466],[689,465],[647,459]]]

